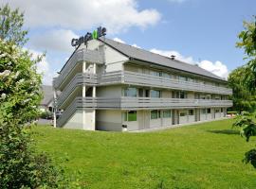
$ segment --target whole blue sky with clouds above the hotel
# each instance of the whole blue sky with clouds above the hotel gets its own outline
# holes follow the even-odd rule
[[[227,77],[245,63],[235,43],[243,21],[256,13],[255,0],[12,0],[9,5],[25,10],[27,48],[46,51],[39,69],[47,84],[72,53],[71,38],[100,25],[110,39],[174,54]]]

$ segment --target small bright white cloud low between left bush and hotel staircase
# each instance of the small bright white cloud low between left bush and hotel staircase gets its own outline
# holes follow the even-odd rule
[[[38,51],[33,50],[33,49],[28,49],[28,51],[30,53],[32,53],[32,58],[33,59],[36,59],[38,56],[43,54],[43,53],[38,52]],[[50,68],[46,57],[44,57],[43,60],[41,60],[40,62],[37,63],[37,72],[39,74],[43,75],[43,84],[52,85],[52,78],[56,77],[56,74],[54,74],[56,72],[54,72]]]

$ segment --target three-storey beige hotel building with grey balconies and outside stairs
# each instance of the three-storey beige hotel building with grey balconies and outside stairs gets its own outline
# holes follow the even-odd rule
[[[140,130],[226,116],[225,79],[174,57],[105,37],[80,44],[58,77],[57,127]]]

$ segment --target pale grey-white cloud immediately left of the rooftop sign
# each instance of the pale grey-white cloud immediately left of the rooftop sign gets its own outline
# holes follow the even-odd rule
[[[68,29],[54,29],[46,31],[41,35],[34,35],[30,38],[32,47],[44,49],[44,50],[55,50],[70,53],[74,50],[71,46],[71,39],[78,38],[73,31]]]

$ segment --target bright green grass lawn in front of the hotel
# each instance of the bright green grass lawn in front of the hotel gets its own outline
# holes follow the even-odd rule
[[[233,120],[147,133],[36,127],[40,150],[86,188],[256,188]]]

